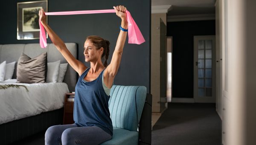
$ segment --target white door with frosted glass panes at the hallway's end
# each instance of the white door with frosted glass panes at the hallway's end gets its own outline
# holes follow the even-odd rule
[[[215,103],[215,36],[194,36],[194,99]]]

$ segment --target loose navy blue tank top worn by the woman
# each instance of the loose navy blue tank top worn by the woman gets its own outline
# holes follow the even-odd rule
[[[84,81],[90,67],[79,77],[75,88],[73,119],[78,126],[97,126],[113,136],[113,126],[108,109],[110,96],[102,86],[102,75],[93,81]]]

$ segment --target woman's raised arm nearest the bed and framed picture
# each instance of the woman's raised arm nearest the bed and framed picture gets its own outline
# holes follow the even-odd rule
[[[67,60],[67,62],[70,64],[70,66],[77,72],[79,75],[81,75],[84,70],[87,69],[87,67],[79,60],[77,60],[67,49],[67,46],[64,44],[64,42],[61,40],[61,38],[58,37],[58,35],[55,34],[55,32],[50,28],[50,26],[46,23],[46,16],[44,14],[44,9],[41,9],[39,11],[39,20],[41,21],[42,25],[46,29],[49,38],[52,40],[52,43],[56,46],[59,52],[63,55],[63,57]]]

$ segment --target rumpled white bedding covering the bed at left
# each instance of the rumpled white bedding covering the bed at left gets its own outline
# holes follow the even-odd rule
[[[15,83],[16,79],[0,81],[2,84],[26,85],[24,87],[0,89],[0,124],[56,110],[64,105],[66,83]]]

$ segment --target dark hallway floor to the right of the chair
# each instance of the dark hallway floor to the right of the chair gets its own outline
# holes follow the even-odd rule
[[[215,104],[169,103],[153,127],[152,145],[221,145]]]

